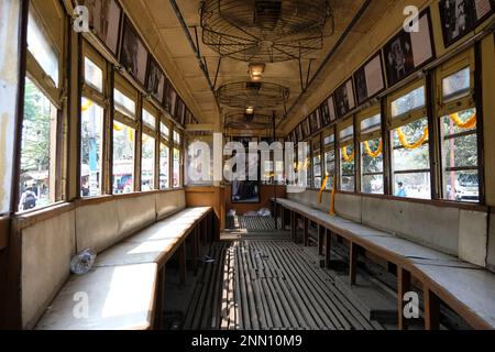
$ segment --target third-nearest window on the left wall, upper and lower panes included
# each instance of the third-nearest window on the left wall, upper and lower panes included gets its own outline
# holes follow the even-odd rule
[[[113,194],[135,190],[135,133],[138,91],[120,75],[116,75],[113,91]]]

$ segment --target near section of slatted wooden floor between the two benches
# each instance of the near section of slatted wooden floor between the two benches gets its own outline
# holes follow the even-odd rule
[[[184,329],[374,330],[308,249],[285,237],[213,244]]]

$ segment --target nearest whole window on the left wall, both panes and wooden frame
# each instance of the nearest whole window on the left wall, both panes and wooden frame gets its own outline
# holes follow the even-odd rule
[[[53,20],[50,25],[44,21],[47,14]],[[64,198],[64,12],[56,1],[30,2],[18,211],[43,208]]]

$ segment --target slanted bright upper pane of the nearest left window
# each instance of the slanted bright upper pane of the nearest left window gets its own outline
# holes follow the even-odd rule
[[[28,50],[34,56],[43,70],[58,87],[58,56],[54,46],[43,33],[42,25],[30,11],[28,22]]]

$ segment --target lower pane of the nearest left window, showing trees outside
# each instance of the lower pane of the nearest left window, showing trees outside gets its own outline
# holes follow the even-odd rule
[[[19,211],[55,202],[57,110],[25,79]]]

